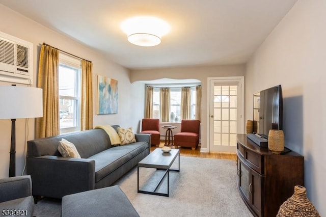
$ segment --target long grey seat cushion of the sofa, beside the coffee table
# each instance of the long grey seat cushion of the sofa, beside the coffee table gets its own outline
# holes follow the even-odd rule
[[[98,182],[147,148],[147,142],[135,142],[112,147],[89,157],[88,159],[95,160],[95,182]]]

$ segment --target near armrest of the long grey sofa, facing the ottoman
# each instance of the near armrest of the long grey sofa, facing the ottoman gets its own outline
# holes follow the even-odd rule
[[[95,187],[95,161],[91,159],[45,155],[27,157],[26,165],[34,196],[62,198]]]

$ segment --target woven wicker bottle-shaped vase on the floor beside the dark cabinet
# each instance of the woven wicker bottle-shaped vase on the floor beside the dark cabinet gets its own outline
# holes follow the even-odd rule
[[[294,186],[294,194],[287,199],[279,209],[277,217],[283,216],[320,216],[314,205],[308,200],[306,188],[301,185]]]

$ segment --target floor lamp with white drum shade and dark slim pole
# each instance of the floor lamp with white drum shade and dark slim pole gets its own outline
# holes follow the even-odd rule
[[[43,116],[42,89],[0,86],[0,119],[11,119],[9,177],[16,175],[16,119]]]

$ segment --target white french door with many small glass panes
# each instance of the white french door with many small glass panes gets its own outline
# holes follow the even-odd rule
[[[243,132],[243,77],[209,79],[209,152],[235,152]]]

